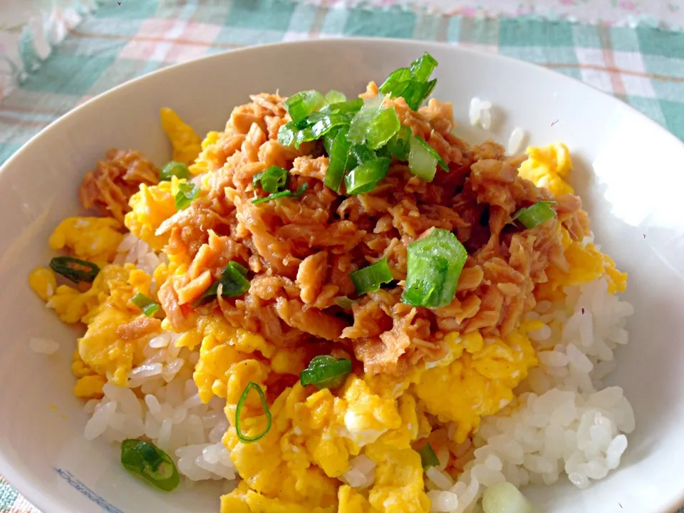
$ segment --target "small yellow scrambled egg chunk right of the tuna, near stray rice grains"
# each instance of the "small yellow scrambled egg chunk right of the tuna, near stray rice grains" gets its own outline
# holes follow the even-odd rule
[[[518,174],[537,187],[545,187],[554,196],[572,194],[573,188],[564,180],[572,170],[570,152],[562,142],[544,147],[530,146]]]

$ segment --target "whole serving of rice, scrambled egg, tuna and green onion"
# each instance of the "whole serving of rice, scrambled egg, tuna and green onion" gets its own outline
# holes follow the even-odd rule
[[[470,512],[618,467],[634,416],[601,382],[633,309],[569,150],[460,140],[428,57],[362,100],[254,95],[203,140],[162,110],[162,170],[86,173],[97,214],[29,277],[87,327],[86,438],[153,444],[162,489],[223,480],[223,512]]]

